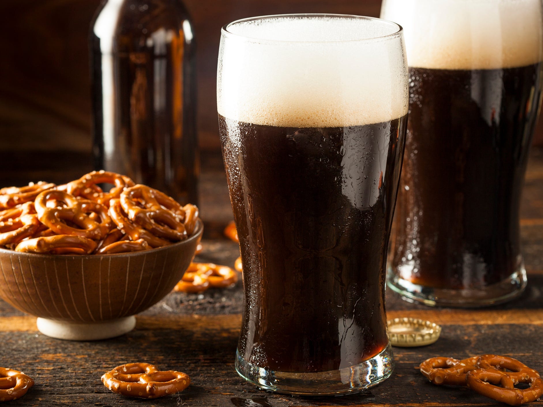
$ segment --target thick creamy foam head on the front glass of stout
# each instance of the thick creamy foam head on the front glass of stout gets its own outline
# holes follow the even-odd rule
[[[377,19],[270,16],[223,29],[220,115],[254,124],[329,127],[407,113],[400,28]]]

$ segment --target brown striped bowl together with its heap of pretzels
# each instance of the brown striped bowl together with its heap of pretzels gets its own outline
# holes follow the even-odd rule
[[[0,297],[54,338],[122,335],[172,291],[202,232],[197,207],[120,174],[2,188]]]

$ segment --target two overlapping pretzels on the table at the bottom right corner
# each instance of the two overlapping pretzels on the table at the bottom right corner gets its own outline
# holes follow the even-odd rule
[[[477,393],[509,405],[521,405],[543,395],[539,373],[519,360],[493,354],[468,359],[437,357],[422,362],[420,372],[433,384],[468,386]],[[524,383],[527,389],[515,385]]]

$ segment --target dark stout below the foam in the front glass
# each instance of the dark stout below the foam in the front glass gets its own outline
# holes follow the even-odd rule
[[[249,363],[332,371],[387,347],[384,253],[406,121],[295,128],[219,117],[249,298],[238,352]]]

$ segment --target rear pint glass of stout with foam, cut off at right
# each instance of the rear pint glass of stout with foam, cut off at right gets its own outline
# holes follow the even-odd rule
[[[523,177],[541,100],[540,0],[385,0],[405,30],[406,155],[388,284],[477,307],[526,287]]]

